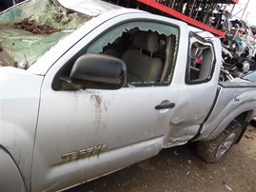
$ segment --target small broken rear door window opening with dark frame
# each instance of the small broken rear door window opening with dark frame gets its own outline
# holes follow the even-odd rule
[[[202,83],[210,80],[213,70],[213,50],[209,44],[193,42],[190,47],[190,61],[187,67],[188,83]]]

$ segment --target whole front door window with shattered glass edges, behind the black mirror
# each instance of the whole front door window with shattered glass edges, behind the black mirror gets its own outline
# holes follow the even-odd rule
[[[179,29],[159,23],[130,22],[110,29],[89,46],[77,52],[56,76],[69,82],[69,71],[75,60],[87,53],[106,54],[125,62],[127,86],[167,86],[171,83],[176,62]],[[54,78],[56,79],[56,78]],[[60,78],[59,78],[60,79]],[[67,90],[53,81],[55,90]]]

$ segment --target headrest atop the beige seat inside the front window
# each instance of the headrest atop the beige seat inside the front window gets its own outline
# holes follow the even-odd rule
[[[135,34],[133,44],[136,48],[154,53],[158,50],[158,36],[151,31],[140,31]]]

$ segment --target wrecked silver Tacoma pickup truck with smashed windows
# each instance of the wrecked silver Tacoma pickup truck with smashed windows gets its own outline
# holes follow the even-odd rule
[[[0,190],[56,191],[198,143],[221,161],[256,84],[219,82],[212,34],[102,1],[30,0],[0,15]]]

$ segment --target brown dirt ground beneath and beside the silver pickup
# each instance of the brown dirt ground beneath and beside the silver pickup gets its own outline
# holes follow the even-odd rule
[[[221,163],[203,162],[187,144],[67,192],[256,192],[256,125],[248,129]]]

